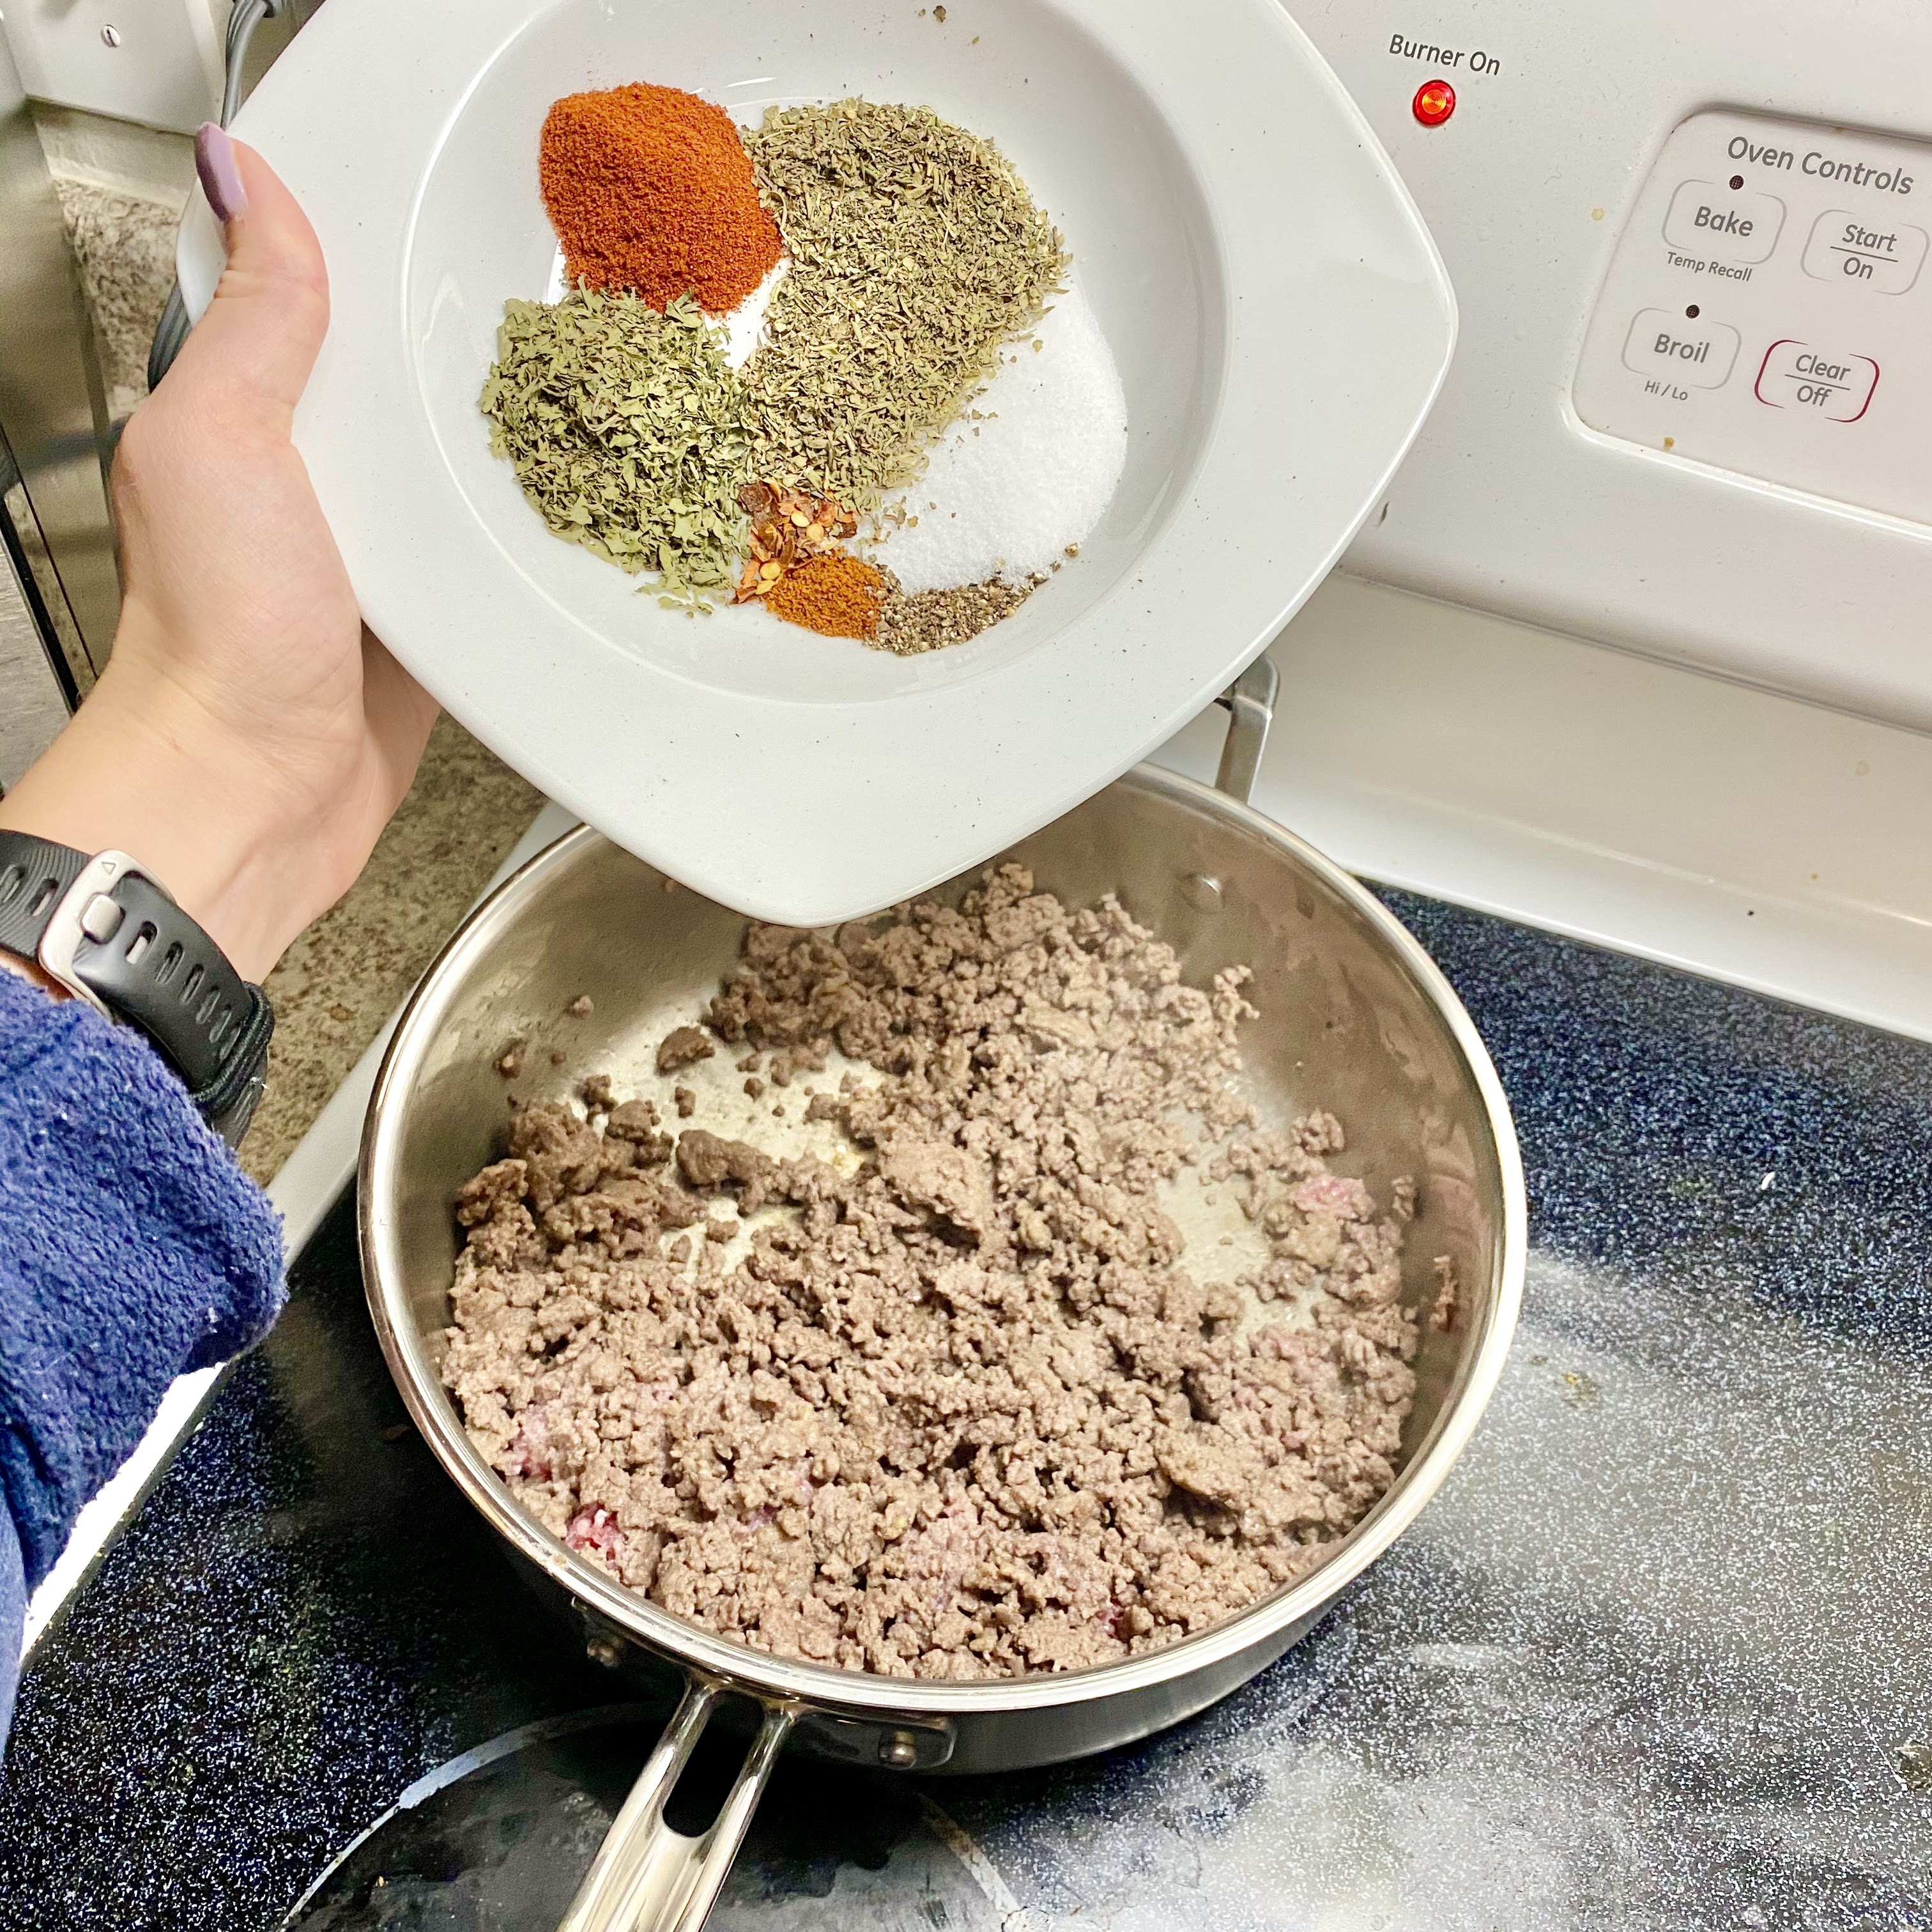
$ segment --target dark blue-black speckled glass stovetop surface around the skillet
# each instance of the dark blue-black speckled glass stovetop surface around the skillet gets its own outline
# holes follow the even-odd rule
[[[1530,1171],[1522,1327],[1449,1486],[1134,1750],[781,1772],[715,1932],[1932,1928],[1897,1768],[1932,1741],[1932,1049],[1395,904]],[[27,1675],[0,1926],[274,1926],[413,1779],[612,1696],[404,1424],[346,1208],[294,1287]],[[611,1764],[545,1752],[522,1789],[582,1772],[595,1812]],[[328,1922],[500,1924],[442,1857]]]

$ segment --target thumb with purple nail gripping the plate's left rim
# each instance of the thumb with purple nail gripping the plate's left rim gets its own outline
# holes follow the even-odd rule
[[[253,392],[286,417],[328,328],[321,243],[274,168],[214,122],[195,135],[195,172],[222,222],[228,267],[176,369],[199,365],[203,379]]]

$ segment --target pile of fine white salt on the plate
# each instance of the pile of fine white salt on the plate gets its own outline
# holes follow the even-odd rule
[[[1034,336],[1001,350],[999,373],[933,444],[898,498],[906,522],[889,514],[873,554],[906,591],[1024,582],[1094,529],[1124,464],[1121,373],[1086,298],[1068,290]]]

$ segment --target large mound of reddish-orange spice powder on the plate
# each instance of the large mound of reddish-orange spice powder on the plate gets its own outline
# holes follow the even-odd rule
[[[543,205],[574,282],[724,315],[784,243],[730,116],[680,87],[564,95],[543,122]]]

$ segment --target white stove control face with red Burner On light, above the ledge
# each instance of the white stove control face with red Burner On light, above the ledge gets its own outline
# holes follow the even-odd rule
[[[1281,4],[1461,315],[1349,570],[1932,732],[1932,6]]]

